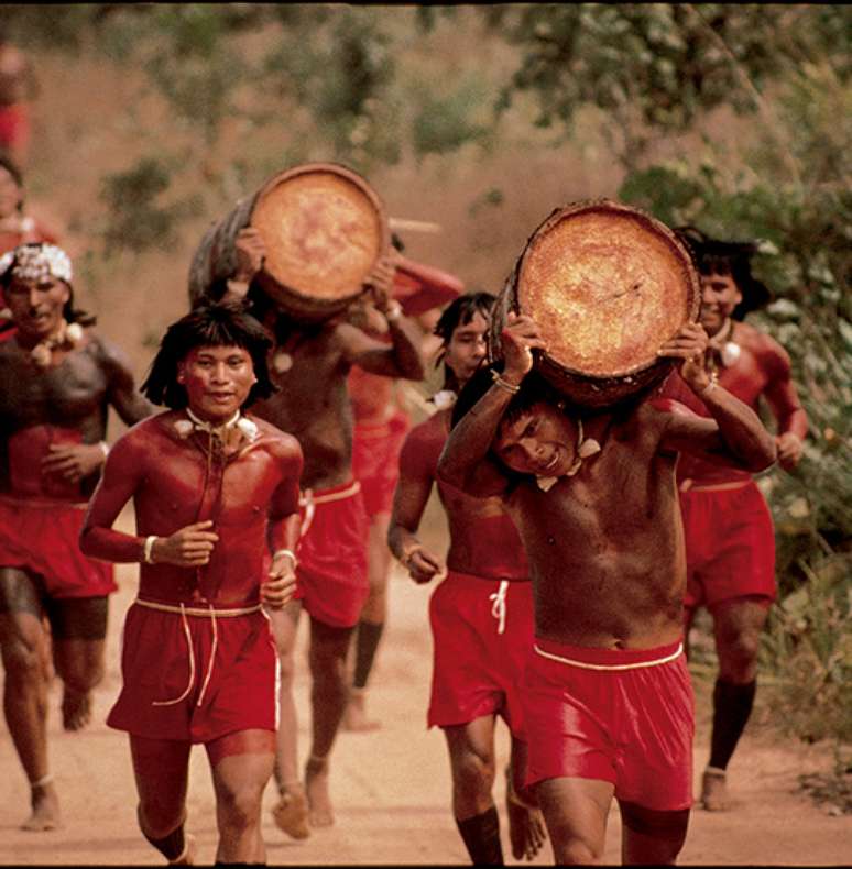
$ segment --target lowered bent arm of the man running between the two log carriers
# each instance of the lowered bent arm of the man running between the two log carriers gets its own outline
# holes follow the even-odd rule
[[[443,570],[440,561],[427,552],[417,538],[433,485],[433,476],[423,461],[425,446],[415,431],[405,439],[400,453],[400,479],[387,528],[391,552],[417,583],[429,582]]]

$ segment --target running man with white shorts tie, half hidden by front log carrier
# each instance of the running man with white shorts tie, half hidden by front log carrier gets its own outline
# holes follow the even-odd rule
[[[489,293],[459,296],[438,320],[446,372],[441,395],[455,396],[484,361],[494,302]],[[521,539],[500,499],[473,498],[437,480],[451,410],[447,402],[405,439],[387,543],[415,582],[443,579],[429,603],[428,726],[440,727],[447,739],[452,814],[471,861],[502,865],[492,796],[498,715],[512,735],[506,811],[513,856],[532,859],[545,838],[540,812],[520,795],[527,746],[517,686],[533,644],[533,593]],[[446,566],[417,538],[434,484],[449,524]]]

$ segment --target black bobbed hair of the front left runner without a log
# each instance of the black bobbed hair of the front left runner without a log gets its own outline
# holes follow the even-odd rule
[[[251,356],[254,365],[253,384],[243,407],[259,398],[269,398],[277,391],[270,377],[266,356],[272,349],[272,337],[247,314],[242,305],[217,302],[194,308],[166,329],[154,356],[148,377],[140,387],[155,405],[173,410],[187,406],[186,389],[177,382],[179,363],[199,346],[239,346]]]

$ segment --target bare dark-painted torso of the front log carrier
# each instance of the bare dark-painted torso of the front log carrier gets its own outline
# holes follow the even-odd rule
[[[537,636],[603,648],[679,638],[686,564],[664,426],[642,405],[612,422],[576,476],[549,492],[526,480],[506,495],[535,582]]]

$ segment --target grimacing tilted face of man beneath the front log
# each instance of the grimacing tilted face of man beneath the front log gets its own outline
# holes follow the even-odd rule
[[[575,437],[561,410],[538,402],[512,421],[500,424],[493,449],[512,471],[561,476],[574,462]]]

